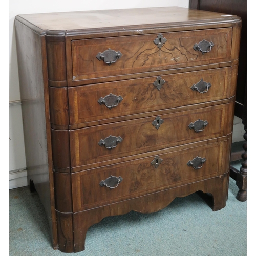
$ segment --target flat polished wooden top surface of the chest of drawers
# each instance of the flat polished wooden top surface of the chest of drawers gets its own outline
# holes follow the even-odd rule
[[[233,20],[236,15],[189,10],[181,7],[157,7],[138,9],[116,9],[100,11],[79,11],[23,14],[19,17],[42,30],[80,30],[111,27],[141,27],[154,24],[209,23],[219,20]]]

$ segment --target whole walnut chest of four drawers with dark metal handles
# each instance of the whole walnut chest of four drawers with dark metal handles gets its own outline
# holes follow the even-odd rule
[[[241,20],[179,7],[15,18],[28,179],[54,248],[198,190],[226,205]]]

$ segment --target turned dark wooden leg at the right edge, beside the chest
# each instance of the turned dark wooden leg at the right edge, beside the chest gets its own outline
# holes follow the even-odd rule
[[[237,186],[239,188],[237,199],[239,201],[246,201],[247,199],[247,125],[244,126],[245,143],[243,144],[244,153],[242,154],[243,162],[242,167],[237,175]]]

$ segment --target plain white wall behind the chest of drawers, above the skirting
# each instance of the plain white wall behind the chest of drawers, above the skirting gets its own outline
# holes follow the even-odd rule
[[[22,126],[22,112],[20,109],[20,93],[18,82],[17,56],[14,33],[14,18],[17,14],[66,12],[81,10],[104,10],[143,7],[180,6],[188,8],[188,0],[129,0],[129,1],[86,1],[86,0],[10,0],[9,1],[9,27],[10,27],[10,52],[9,52],[9,171],[23,170],[26,168],[25,148]],[[160,13],[156,13],[161,18]],[[25,173],[26,175],[26,173]],[[18,186],[18,185],[17,185]]]

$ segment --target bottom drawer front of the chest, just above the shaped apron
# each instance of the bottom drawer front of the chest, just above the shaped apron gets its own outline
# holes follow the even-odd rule
[[[223,160],[226,148],[227,141],[222,141],[160,154],[158,157],[162,162],[157,168],[151,163],[154,155],[72,174],[73,210],[86,210],[222,175],[228,171]],[[193,168],[188,163],[197,156],[205,162],[195,169],[197,167]],[[122,180],[114,178],[110,184],[106,179],[111,176]],[[100,185],[102,180],[105,182]]]

